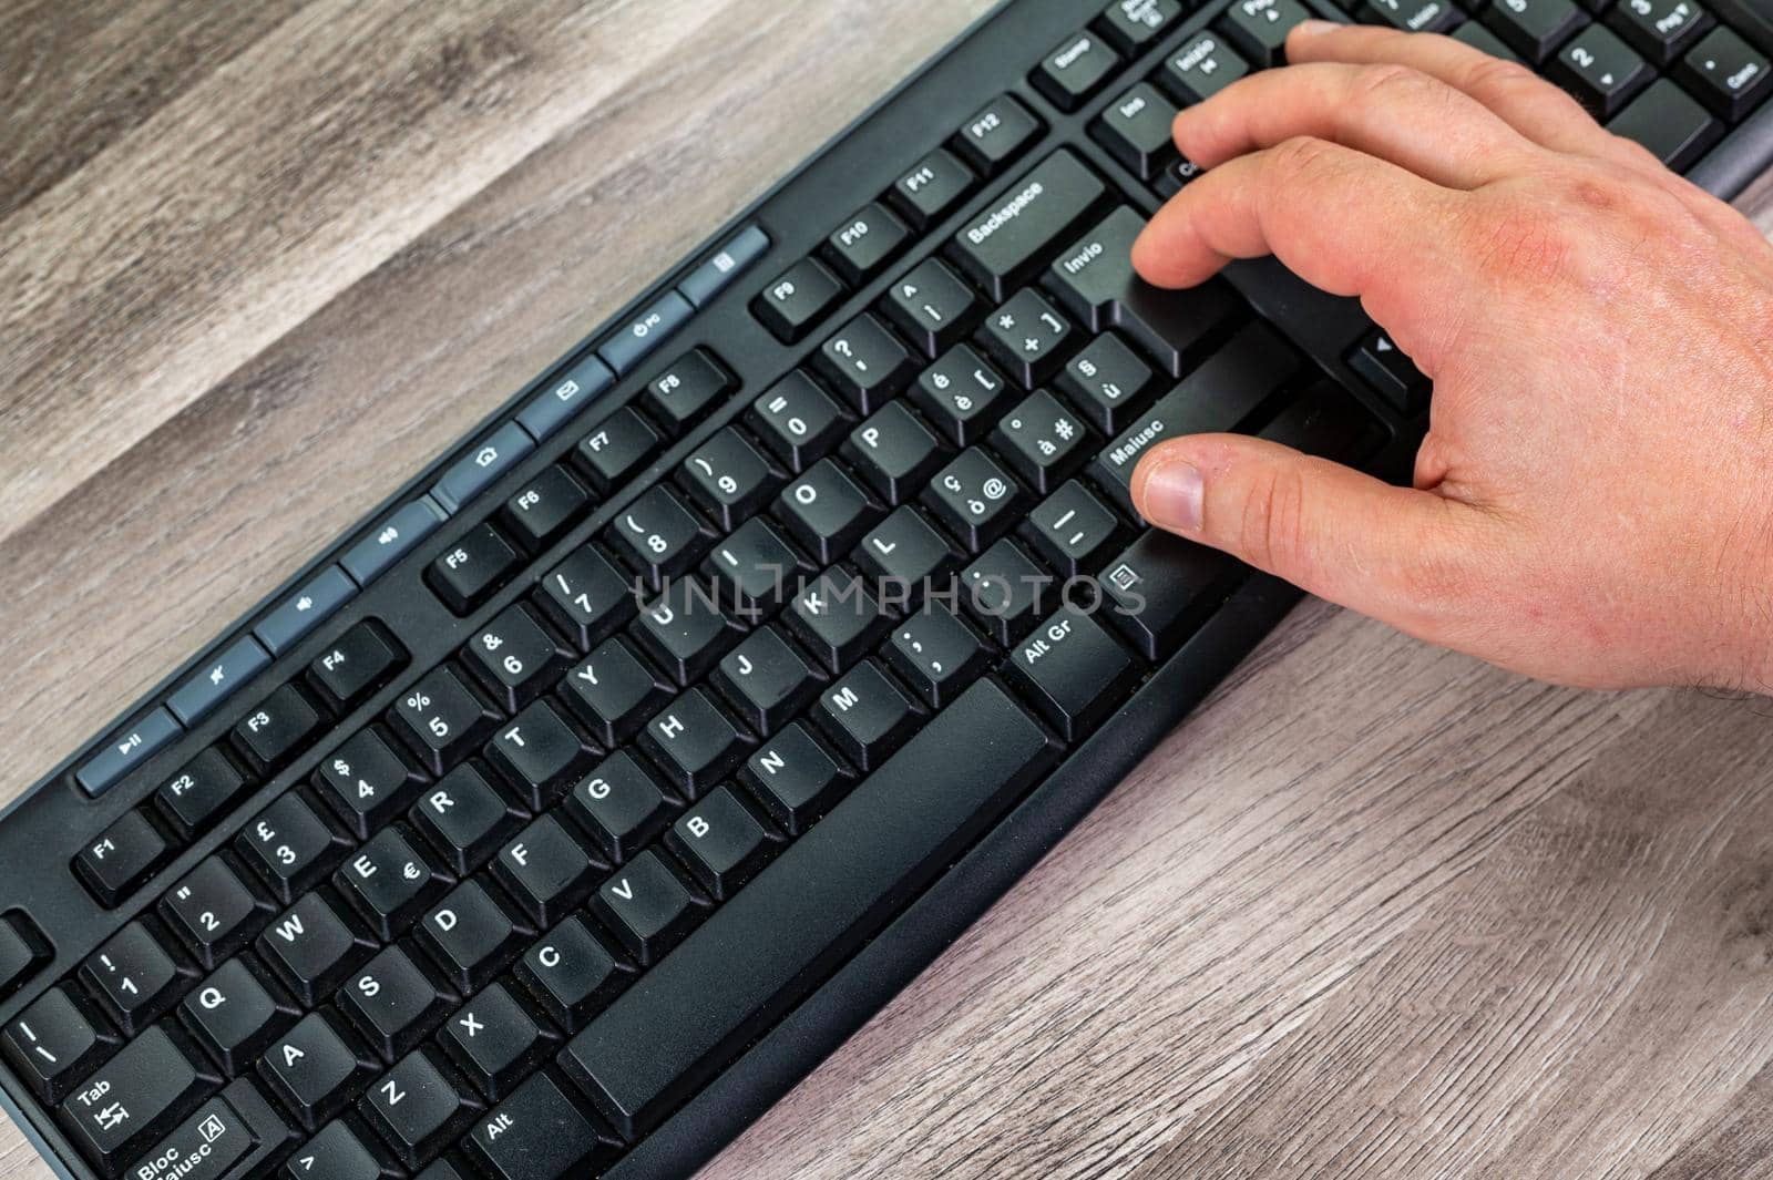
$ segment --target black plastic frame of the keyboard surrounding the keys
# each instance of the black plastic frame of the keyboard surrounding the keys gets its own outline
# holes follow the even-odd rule
[[[1326,18],[1346,19],[1344,12],[1333,5],[1319,0],[1303,2]],[[1773,18],[1753,12],[1748,7],[1752,2],[1722,0],[1713,7],[1725,12],[1738,28],[1757,28],[1768,41],[1773,41]],[[769,252],[707,307],[700,308],[645,363],[599,395],[592,411],[541,443],[498,482],[404,555],[394,569],[257,673],[246,689],[133,769],[105,796],[89,799],[74,783],[73,771],[108,741],[117,726],[94,735],[90,742],[64,758],[0,813],[0,898],[4,898],[0,911],[12,905],[28,907],[32,920],[50,930],[53,941],[53,959],[43,964],[21,992],[0,1003],[0,1024],[9,1022],[57,980],[73,973],[105,937],[137,914],[151,911],[172,881],[232,842],[239,827],[269,801],[293,785],[307,781],[317,762],[330,753],[333,742],[316,744],[275,778],[243,797],[222,824],[193,840],[176,859],[156,872],[138,897],[119,909],[99,907],[74,879],[69,859],[80,845],[69,840],[69,833],[80,833],[82,838],[96,835],[124,811],[135,808],[191,757],[222,741],[250,705],[262,700],[277,686],[298,677],[326,647],[328,640],[369,617],[392,620],[394,629],[411,647],[411,663],[392,684],[349,716],[340,718],[332,734],[356,732],[381,716],[411,680],[449,659],[475,625],[519,601],[534,585],[530,579],[519,578],[472,615],[456,618],[429,590],[411,594],[413,581],[420,579],[422,585],[424,571],[466,528],[484,519],[525,480],[558,461],[601,416],[628,404],[660,369],[697,345],[713,345],[741,377],[743,386],[727,406],[688,431],[677,443],[665,446],[660,457],[637,475],[621,494],[599,503],[589,517],[564,533],[546,553],[534,558],[534,567],[546,569],[560,555],[598,535],[622,505],[665,478],[690,450],[743,413],[743,406],[773,381],[791,372],[826,338],[830,330],[872,307],[895,275],[926,253],[940,250],[941,243],[954,234],[957,225],[965,223],[968,214],[991,204],[1055,147],[1069,145],[1108,179],[1128,198],[1128,204],[1145,214],[1154,211],[1160,202],[1151,195],[1151,190],[1092,140],[1087,128],[1126,85],[1149,74],[1161,62],[1165,48],[1211,23],[1223,5],[1209,4],[1191,12],[1154,41],[1145,53],[1131,58],[1117,80],[1103,87],[1096,97],[1073,113],[1062,113],[1030,85],[1028,73],[1048,48],[1089,23],[1101,7],[1096,0],[1085,4],[1076,0],[1002,0],[941,53],[920,66],[844,131],[812,152],[798,168],[713,232],[679,266],[587,333],[558,363],[488,415],[465,436],[461,446],[436,457],[415,473],[383,503],[365,514],[356,526],[317,553],[254,609],[218,634],[213,643],[144,693],[135,705],[121,714],[119,725],[163,700],[184,677],[204,666],[215,652],[250,633],[252,625],[289,592],[333,563],[344,549],[372,532],[390,510],[429,491],[443,470],[470,454],[496,425],[511,420],[530,395],[546,388],[573,361],[589,354],[612,328],[628,322],[661,292],[670,291],[684,273],[709,257],[736,230],[752,223],[762,225],[771,237]],[[1761,43],[1759,37],[1757,43]],[[1762,44],[1762,48],[1769,46]],[[1043,119],[1046,129],[1039,140],[1021,152],[1007,170],[975,190],[954,213],[917,237],[911,252],[901,255],[876,280],[856,287],[821,321],[821,330],[814,331],[808,340],[796,345],[778,344],[748,310],[757,291],[787,266],[814,252],[823,236],[842,216],[885,191],[904,167],[945,142],[959,119],[1000,92],[1014,94]],[[931,112],[940,112],[940,115],[931,119]],[[876,147],[879,151],[874,151]],[[1762,103],[1688,175],[1720,197],[1734,197],[1755,179],[1769,156],[1773,156],[1773,101]],[[1401,418],[1347,369],[1344,353],[1367,322],[1358,305],[1285,282],[1273,262],[1238,264],[1229,275],[1232,283],[1252,299],[1257,312],[1277,321],[1284,335],[1317,361],[1332,379],[1349,390],[1372,411],[1376,420],[1386,425],[1390,438],[1369,468],[1388,478],[1408,478],[1424,423],[1420,418],[1415,422]],[[686,1175],[730,1143],[922,973],[943,948],[1051,850],[1195,703],[1236,668],[1300,597],[1298,590],[1278,579],[1254,572],[1246,576],[1229,594],[1222,609],[1211,615],[1167,663],[1160,664],[1096,734],[1078,744],[1050,776],[988,829],[947,873],[913,898],[871,943],[839,966],[803,1003],[762,1033],[715,1081],[635,1145],[605,1175],[621,1180]],[[410,641],[413,634],[426,634],[427,643],[413,645]],[[101,1180],[62,1134],[51,1113],[5,1065],[0,1065],[0,1107],[23,1129],[59,1175],[71,1180]]]

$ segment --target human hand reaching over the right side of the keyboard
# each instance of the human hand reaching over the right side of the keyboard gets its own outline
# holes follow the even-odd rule
[[[1207,172],[1133,262],[1358,294],[1434,379],[1415,487],[1202,434],[1140,512],[1546,680],[1773,691],[1773,246],[1463,43],[1314,21],[1287,57],[1175,119]]]

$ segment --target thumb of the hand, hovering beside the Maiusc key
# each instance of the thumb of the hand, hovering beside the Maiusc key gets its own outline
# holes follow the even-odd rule
[[[1133,471],[1133,505],[1158,528],[1427,640],[1482,590],[1495,551],[1493,521],[1472,505],[1241,434],[1160,443]]]

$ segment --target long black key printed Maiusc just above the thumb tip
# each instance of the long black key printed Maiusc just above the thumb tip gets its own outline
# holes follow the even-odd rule
[[[1181,434],[1234,431],[1298,369],[1298,354],[1262,324],[1250,324],[1103,448],[1090,475],[1131,512],[1133,466]]]

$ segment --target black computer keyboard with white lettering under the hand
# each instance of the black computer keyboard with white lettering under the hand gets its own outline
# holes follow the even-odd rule
[[[0,1081],[82,1180],[693,1171],[1285,613],[1154,443],[1406,478],[1429,383],[1273,262],[1128,248],[1305,0],[1016,0],[0,820]],[[1720,195],[1746,0],[1365,0]],[[323,493],[317,493],[323,494]]]

